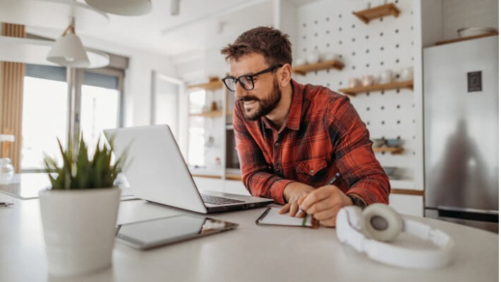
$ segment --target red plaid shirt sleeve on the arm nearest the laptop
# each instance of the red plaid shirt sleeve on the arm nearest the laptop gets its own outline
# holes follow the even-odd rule
[[[237,106],[233,116],[236,151],[239,153],[243,185],[254,197],[266,197],[278,204],[284,204],[285,186],[293,180],[275,175],[268,167],[260,147],[248,132]]]

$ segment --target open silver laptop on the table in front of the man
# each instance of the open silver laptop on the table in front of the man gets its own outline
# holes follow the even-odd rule
[[[114,154],[128,149],[123,168],[136,197],[200,214],[250,209],[273,200],[203,190],[200,193],[169,125],[147,125],[103,130],[114,137]]]

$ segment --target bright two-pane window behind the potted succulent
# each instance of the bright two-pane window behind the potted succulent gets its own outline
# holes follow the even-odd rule
[[[80,104],[80,128],[90,154],[102,136],[102,130],[116,128],[122,121],[123,71],[101,68],[76,71],[76,104]],[[68,85],[66,68],[26,65],[23,88],[23,140],[21,171],[40,170],[44,154],[56,157],[56,137],[66,149],[68,143]]]

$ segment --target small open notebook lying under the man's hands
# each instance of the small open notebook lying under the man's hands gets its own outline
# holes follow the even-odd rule
[[[278,226],[301,226],[318,228],[318,221],[312,220],[313,217],[307,214],[303,218],[292,217],[289,214],[279,214],[280,209],[269,207],[255,221],[258,225],[278,225]]]

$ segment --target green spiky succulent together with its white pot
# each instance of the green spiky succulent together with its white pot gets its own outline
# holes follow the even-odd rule
[[[78,152],[64,151],[61,167],[46,156],[45,171],[52,187],[40,191],[40,212],[47,251],[49,274],[73,276],[111,266],[120,190],[114,180],[125,154],[111,165],[109,147],[95,148],[92,159],[80,137]]]

